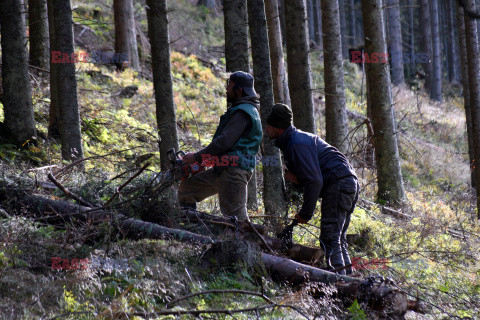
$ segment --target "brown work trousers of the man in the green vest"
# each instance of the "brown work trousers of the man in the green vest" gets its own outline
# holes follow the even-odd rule
[[[234,167],[208,169],[180,183],[178,201],[186,206],[195,205],[218,193],[223,215],[249,220],[247,184],[251,177],[252,172]]]

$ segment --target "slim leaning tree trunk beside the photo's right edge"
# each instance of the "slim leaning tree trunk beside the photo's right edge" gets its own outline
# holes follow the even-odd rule
[[[457,6],[457,25],[458,25],[458,47],[460,48],[460,59],[462,67],[462,84],[463,84],[463,99],[465,107],[465,119],[467,122],[467,142],[468,142],[468,156],[470,159],[470,181],[472,187],[475,187],[475,153],[473,144],[473,126],[472,113],[470,108],[470,89],[468,81],[468,59],[467,59],[467,43],[465,39],[465,18],[463,7]]]

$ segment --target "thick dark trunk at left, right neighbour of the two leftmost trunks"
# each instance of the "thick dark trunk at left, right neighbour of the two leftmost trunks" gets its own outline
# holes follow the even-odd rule
[[[52,52],[61,53],[61,60],[50,65],[53,69],[50,75],[50,88],[55,88],[52,98],[56,100],[52,101],[52,104],[57,108],[56,121],[62,143],[62,158],[74,160],[83,157],[83,147],[75,63],[71,59],[73,55],[72,7],[70,0],[49,0],[48,5],[51,7],[49,8],[50,37],[53,36],[50,40],[50,48]],[[52,14],[51,17],[50,14]]]

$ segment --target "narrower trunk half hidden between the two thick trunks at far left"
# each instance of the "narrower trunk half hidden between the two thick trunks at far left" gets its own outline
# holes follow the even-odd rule
[[[30,64],[48,69],[48,12],[46,0],[28,2],[28,31],[30,34]]]

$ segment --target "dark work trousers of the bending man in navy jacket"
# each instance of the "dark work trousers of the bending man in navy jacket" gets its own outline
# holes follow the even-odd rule
[[[331,182],[322,190],[320,243],[325,250],[327,267],[339,274],[351,274],[347,252],[347,228],[358,200],[358,182],[354,176]],[[346,267],[348,266],[348,267]]]

